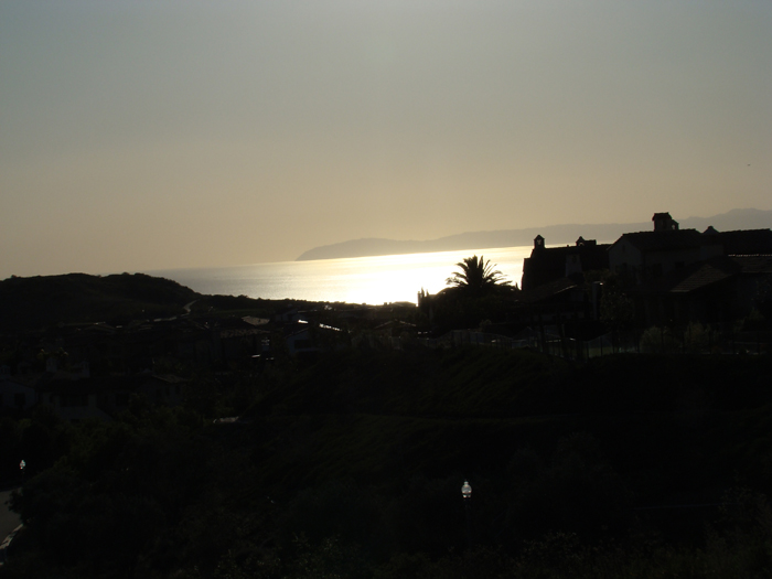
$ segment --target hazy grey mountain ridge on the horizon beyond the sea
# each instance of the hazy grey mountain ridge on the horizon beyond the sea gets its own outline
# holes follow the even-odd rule
[[[682,229],[697,229],[700,232],[705,230],[709,225],[712,225],[719,232],[772,227],[772,211],[752,208],[732,210],[712,217],[679,219],[677,215],[673,215],[673,218],[680,224]],[[624,233],[648,232],[652,227],[651,222],[547,225],[525,229],[462,233],[425,242],[369,237],[314,247],[304,251],[296,261],[516,247],[530,245],[537,235],[542,235],[545,238],[548,247],[550,245],[572,244],[580,236],[586,239],[598,239],[599,242],[614,242]]]

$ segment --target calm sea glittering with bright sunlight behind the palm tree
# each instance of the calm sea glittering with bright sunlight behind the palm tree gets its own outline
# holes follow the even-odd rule
[[[455,264],[472,255],[497,264],[496,269],[513,285],[521,282],[523,258],[530,246],[467,249],[314,261],[281,261],[200,269],[150,271],[179,281],[205,294],[249,296],[280,300],[343,301],[380,304],[396,301],[416,303],[423,288],[436,293],[457,269]]]

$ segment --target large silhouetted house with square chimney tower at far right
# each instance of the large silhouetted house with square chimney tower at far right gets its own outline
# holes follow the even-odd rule
[[[651,232],[626,233],[609,249],[640,325],[703,322],[729,328],[772,281],[772,230],[679,229],[668,213]]]

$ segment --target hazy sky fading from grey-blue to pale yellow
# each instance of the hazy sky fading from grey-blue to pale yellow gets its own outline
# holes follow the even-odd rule
[[[769,0],[0,0],[0,279],[772,210]]]

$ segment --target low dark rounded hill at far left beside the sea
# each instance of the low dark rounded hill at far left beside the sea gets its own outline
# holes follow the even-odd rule
[[[0,331],[182,313],[199,293],[144,274],[12,277],[0,281]]]

